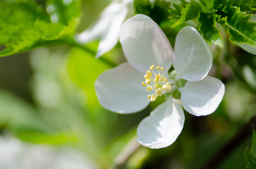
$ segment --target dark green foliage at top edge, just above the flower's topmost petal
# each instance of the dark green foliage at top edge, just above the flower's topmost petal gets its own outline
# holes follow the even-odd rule
[[[157,24],[168,20],[170,2],[156,0],[153,4],[149,0],[134,0],[135,14],[144,14],[153,19]]]

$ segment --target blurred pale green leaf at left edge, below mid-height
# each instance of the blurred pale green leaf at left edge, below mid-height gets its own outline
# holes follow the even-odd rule
[[[0,90],[0,125],[14,132],[45,132],[53,129],[32,105],[3,90]]]

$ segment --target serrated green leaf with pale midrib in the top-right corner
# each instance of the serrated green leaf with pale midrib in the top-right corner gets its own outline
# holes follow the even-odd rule
[[[250,21],[252,14],[241,12],[228,1],[222,10],[216,12],[218,23],[222,24],[230,34],[233,43],[256,55],[256,22]]]

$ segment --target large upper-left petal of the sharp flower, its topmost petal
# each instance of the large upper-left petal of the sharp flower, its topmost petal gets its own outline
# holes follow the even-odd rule
[[[123,24],[120,43],[129,64],[146,73],[151,65],[171,67],[173,51],[166,35],[150,17],[138,14]]]

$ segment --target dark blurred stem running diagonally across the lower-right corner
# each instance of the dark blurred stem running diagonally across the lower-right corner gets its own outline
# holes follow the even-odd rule
[[[256,115],[251,118],[251,121],[228,141],[214,157],[206,163],[202,169],[218,168],[218,166],[229,156],[240,144],[242,144],[248,137],[251,136],[251,130],[256,128]]]

